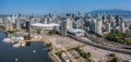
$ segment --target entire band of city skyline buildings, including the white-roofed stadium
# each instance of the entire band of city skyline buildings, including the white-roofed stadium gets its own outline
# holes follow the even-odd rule
[[[58,26],[52,26],[58,24]],[[130,24],[126,24],[124,20],[119,15],[106,15],[98,14],[92,15],[90,13],[67,13],[64,15],[58,15],[56,13],[44,16],[22,16],[10,15],[7,17],[0,17],[0,25],[3,25],[7,30],[15,29],[60,29],[61,35],[66,36],[69,29],[81,29],[87,33],[97,35],[105,35],[111,32],[126,33],[130,30]],[[51,27],[49,27],[49,25]],[[11,28],[12,26],[12,28]]]

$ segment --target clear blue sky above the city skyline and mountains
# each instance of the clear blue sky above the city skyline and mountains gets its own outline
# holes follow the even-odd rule
[[[0,0],[0,14],[90,12],[100,9],[131,10],[131,0]]]

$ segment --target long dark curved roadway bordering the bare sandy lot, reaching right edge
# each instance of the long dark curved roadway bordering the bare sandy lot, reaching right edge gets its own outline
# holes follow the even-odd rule
[[[71,36],[71,35],[68,35],[68,36],[75,39],[75,40],[78,40],[78,41],[81,41],[83,44],[91,45],[91,46],[94,46],[94,47],[97,47],[97,48],[102,48],[102,49],[110,50],[110,51],[115,51],[115,52],[121,52],[121,53],[126,53],[126,54],[131,54],[131,50],[116,48],[116,47],[106,46],[106,45],[102,45],[102,44],[96,44],[96,42],[88,41],[88,40],[83,40],[83,39],[81,39],[79,37]]]

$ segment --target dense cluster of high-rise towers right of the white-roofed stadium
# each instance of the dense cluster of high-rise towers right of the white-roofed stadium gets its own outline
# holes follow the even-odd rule
[[[67,14],[66,18],[61,22],[61,33],[66,34],[71,28],[83,29],[97,35],[105,35],[111,32],[126,32],[124,21],[120,16],[112,16],[106,14],[91,15],[81,13]]]

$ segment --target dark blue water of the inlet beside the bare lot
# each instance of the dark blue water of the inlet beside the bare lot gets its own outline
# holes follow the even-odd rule
[[[2,42],[4,37],[5,35],[0,32],[0,62],[52,62],[43,42],[13,48],[12,45]]]

